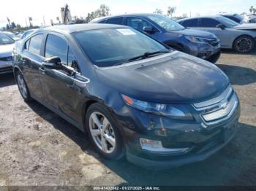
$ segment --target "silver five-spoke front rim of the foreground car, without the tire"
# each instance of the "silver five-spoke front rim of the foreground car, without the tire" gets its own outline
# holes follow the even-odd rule
[[[107,117],[100,112],[92,112],[89,117],[89,129],[94,143],[105,153],[116,149],[116,135]]]

